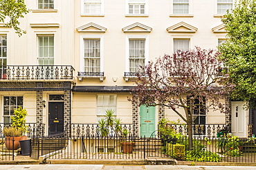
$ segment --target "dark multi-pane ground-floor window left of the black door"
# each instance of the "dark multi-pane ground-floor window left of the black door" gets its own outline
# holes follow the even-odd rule
[[[23,96],[3,96],[3,123],[10,123],[10,116],[19,107],[23,107]]]

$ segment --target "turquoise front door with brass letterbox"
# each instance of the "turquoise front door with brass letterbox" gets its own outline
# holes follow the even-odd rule
[[[140,136],[149,138],[156,130],[156,107],[140,106]]]

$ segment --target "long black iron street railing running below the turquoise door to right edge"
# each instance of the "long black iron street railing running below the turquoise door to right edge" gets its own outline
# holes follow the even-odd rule
[[[193,136],[190,150],[187,136],[169,137],[135,138],[130,135],[123,138],[116,135],[102,137],[84,134],[71,138],[37,138],[33,140],[33,158],[145,160],[154,157],[197,162],[256,161],[256,138]]]

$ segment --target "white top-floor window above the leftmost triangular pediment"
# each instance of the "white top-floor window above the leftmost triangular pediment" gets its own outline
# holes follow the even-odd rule
[[[82,0],[84,14],[102,14],[103,13],[103,0]]]

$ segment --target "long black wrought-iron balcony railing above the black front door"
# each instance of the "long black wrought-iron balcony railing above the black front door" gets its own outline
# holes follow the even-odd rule
[[[1,70],[6,80],[72,80],[71,65],[7,65]]]

